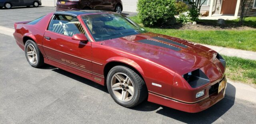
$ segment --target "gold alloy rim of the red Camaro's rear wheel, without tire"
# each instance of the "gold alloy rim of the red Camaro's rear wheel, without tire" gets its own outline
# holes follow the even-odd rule
[[[30,63],[35,64],[38,59],[35,47],[32,44],[28,44],[26,52]]]

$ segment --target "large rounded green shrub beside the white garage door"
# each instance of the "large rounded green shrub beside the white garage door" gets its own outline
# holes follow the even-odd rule
[[[138,0],[138,16],[144,26],[161,26],[175,15],[176,0]]]

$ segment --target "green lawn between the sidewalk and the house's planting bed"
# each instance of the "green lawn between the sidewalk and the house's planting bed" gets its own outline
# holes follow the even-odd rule
[[[137,16],[130,17],[134,22],[141,24]],[[205,20],[202,20],[205,21]],[[208,20],[209,21],[209,20]],[[210,20],[214,23],[216,20]],[[227,23],[236,23],[238,20],[229,20]],[[256,17],[246,18],[245,25],[256,26]],[[256,30],[174,30],[144,27],[147,31],[179,37],[196,43],[217,45],[236,49],[256,51]]]

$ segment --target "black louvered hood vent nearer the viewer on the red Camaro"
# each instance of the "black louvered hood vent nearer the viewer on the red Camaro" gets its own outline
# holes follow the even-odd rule
[[[178,47],[174,47],[172,45],[169,45],[169,44],[166,44],[166,43],[161,43],[161,42],[158,42],[158,41],[153,41],[153,40],[150,40],[150,39],[142,39],[142,40],[139,40],[138,42],[146,43],[146,44],[149,44],[149,45],[155,45],[155,46],[158,46],[158,47],[165,47],[165,48],[172,49],[172,50],[175,50],[175,51],[181,50]]]

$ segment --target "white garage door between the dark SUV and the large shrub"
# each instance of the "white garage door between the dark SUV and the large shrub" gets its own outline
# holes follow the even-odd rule
[[[138,0],[122,0],[123,11],[136,12]]]

